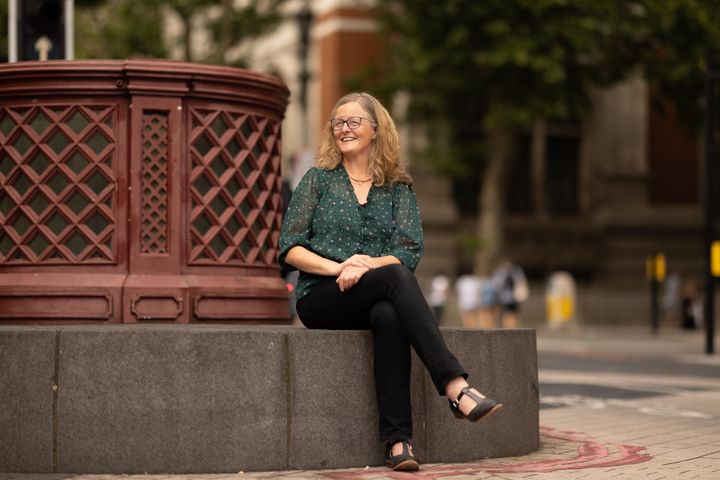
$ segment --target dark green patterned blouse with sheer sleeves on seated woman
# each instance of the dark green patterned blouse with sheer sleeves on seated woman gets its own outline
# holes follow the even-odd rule
[[[423,253],[423,232],[415,193],[409,185],[370,187],[360,204],[345,167],[311,168],[293,193],[280,232],[280,265],[301,245],[336,262],[355,254],[395,256],[411,271]],[[300,272],[295,295],[305,296],[323,277]]]

